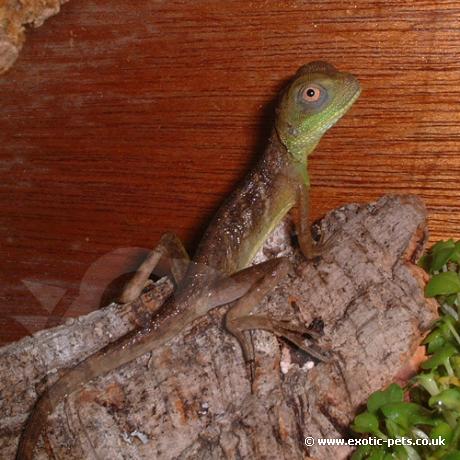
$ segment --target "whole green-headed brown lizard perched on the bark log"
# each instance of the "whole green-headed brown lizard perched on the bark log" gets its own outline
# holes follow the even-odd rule
[[[308,346],[311,331],[251,314],[264,296],[287,275],[285,257],[251,266],[265,239],[297,204],[297,237],[301,252],[311,258],[326,242],[314,244],[308,218],[307,163],[324,133],[353,105],[361,92],[356,77],[324,61],[303,65],[282,91],[266,150],[243,182],[221,205],[201,239],[193,261],[174,234],[164,235],[127,283],[120,303],[141,293],[161,260],[170,262],[177,287],[145,327],[126,334],[67,370],[37,399],[29,414],[16,460],[32,460],[36,443],[53,407],[84,383],[151,352],[171,340],[211,309],[230,304],[226,329],[241,345],[244,359],[253,361],[245,331],[264,329],[285,337],[319,359]],[[182,263],[186,260],[186,263]]]

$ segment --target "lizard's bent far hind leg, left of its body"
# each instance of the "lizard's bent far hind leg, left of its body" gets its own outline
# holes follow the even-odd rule
[[[174,233],[165,233],[158,245],[142,262],[133,277],[126,283],[120,295],[120,303],[128,303],[137,299],[147,283],[152,272],[158,265],[166,268],[168,274],[176,284],[179,284],[185,276],[190,263],[182,242]]]

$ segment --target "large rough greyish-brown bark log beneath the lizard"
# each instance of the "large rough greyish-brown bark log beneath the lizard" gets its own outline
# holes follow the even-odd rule
[[[305,324],[324,323],[328,364],[273,335],[252,333],[256,377],[222,329],[225,308],[171,341],[59,404],[37,459],[345,458],[346,448],[304,445],[304,438],[342,437],[369,393],[402,378],[436,317],[423,297],[425,277],[413,264],[426,237],[423,204],[384,197],[348,205],[322,221],[334,234],[324,257],[301,260],[285,221],[257,260],[290,255],[293,273],[258,311]],[[171,291],[161,281],[134,305],[106,309],[26,338],[0,351],[0,452],[13,458],[37,392],[123,335]],[[137,319],[135,319],[137,318]],[[315,321],[316,320],[316,321]]]

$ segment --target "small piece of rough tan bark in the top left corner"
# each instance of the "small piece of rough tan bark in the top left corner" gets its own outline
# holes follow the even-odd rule
[[[67,1],[0,0],[0,74],[16,61],[25,40],[25,27],[41,26]]]

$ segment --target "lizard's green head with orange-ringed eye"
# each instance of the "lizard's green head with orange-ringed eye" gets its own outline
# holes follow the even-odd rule
[[[321,136],[358,98],[361,89],[351,74],[327,62],[302,66],[282,94],[276,131],[295,160],[306,162]]]

